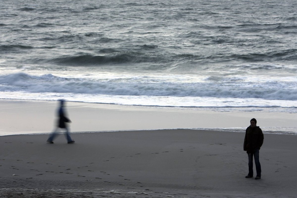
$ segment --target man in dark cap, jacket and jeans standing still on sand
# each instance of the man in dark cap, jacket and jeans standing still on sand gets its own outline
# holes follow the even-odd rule
[[[257,176],[255,179],[261,179],[261,164],[259,161],[259,150],[263,144],[264,135],[259,126],[257,126],[257,120],[252,118],[251,125],[247,127],[244,137],[243,150],[247,151],[249,157],[249,174],[246,178],[253,177],[253,156],[255,159]]]

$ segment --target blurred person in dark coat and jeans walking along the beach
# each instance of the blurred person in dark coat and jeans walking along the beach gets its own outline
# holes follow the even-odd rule
[[[59,116],[59,119],[58,119],[58,123],[57,123],[57,128],[54,130],[54,132],[52,134],[50,134],[50,137],[48,138],[47,142],[50,143],[50,144],[53,144],[53,140],[54,138],[56,137],[57,135],[57,131],[58,129],[65,129],[66,130],[66,138],[67,138],[67,142],[68,144],[72,144],[74,143],[74,141],[71,139],[70,135],[69,135],[69,130],[68,130],[68,127],[67,127],[67,123],[71,123],[71,121],[69,120],[69,118],[67,118],[65,116],[65,113],[64,113],[64,100],[60,100],[60,108],[58,110],[58,116]]]

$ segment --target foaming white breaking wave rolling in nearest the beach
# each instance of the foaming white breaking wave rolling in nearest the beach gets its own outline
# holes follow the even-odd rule
[[[217,80],[214,78],[214,80]],[[232,80],[232,79],[231,79]],[[192,96],[218,98],[259,98],[297,100],[294,83],[172,83],[148,79],[90,80],[64,78],[51,74],[33,76],[25,73],[0,76],[0,91],[55,92],[76,94],[105,94],[127,96]],[[230,80],[229,80],[230,81]]]

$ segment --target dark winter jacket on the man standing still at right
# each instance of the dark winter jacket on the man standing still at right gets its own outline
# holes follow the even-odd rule
[[[247,153],[254,153],[258,148],[260,149],[264,140],[264,135],[259,126],[247,127],[245,130],[243,150]]]

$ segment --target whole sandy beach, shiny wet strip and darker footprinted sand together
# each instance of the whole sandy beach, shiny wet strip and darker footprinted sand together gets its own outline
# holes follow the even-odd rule
[[[0,197],[297,197],[296,135],[264,131],[255,180],[245,178],[243,132],[139,130],[247,127],[251,117],[293,126],[293,116],[67,102],[75,144],[63,134],[47,144],[57,102],[0,107],[1,135],[16,134],[0,137]]]

